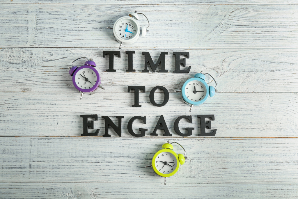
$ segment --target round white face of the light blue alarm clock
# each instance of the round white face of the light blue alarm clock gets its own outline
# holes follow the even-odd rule
[[[194,80],[185,86],[185,95],[193,102],[199,102],[204,99],[207,94],[206,87],[200,81]]]

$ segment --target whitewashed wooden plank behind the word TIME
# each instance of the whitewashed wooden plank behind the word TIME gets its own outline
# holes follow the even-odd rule
[[[169,92],[179,90],[183,83],[197,72],[211,74],[218,83],[218,92],[298,92],[298,49],[121,49],[121,57],[114,57],[114,69],[106,72],[109,55],[106,49],[69,48],[2,48],[0,49],[0,91],[77,92],[72,85],[68,67],[81,56],[92,57],[100,71],[100,92],[126,92],[125,86],[142,85],[153,88],[166,87]],[[126,50],[135,50],[133,56],[136,72],[128,69]],[[144,55],[150,52],[154,62],[161,52],[166,55],[168,73],[142,73]],[[189,74],[176,74],[173,52],[189,52]],[[182,57],[181,57],[182,58]],[[84,59],[75,62],[81,66]],[[181,67],[182,69],[183,67]],[[150,69],[151,70],[151,69]],[[160,69],[157,69],[159,71]],[[212,80],[206,75],[207,81]],[[211,82],[210,85],[215,85]],[[147,90],[150,91],[150,90]]]

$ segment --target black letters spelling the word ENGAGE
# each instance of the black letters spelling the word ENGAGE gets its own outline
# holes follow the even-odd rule
[[[94,129],[94,120],[91,120],[89,123],[88,118],[94,118],[95,120],[98,120],[98,116],[97,115],[81,115],[81,117],[83,118],[83,134],[81,134],[81,136],[98,136],[99,129],[97,129],[95,131],[95,133],[88,133],[88,128]],[[214,115],[198,115],[197,117],[200,118],[200,124],[201,124],[201,133],[198,134],[198,136],[215,136],[216,129],[213,130],[212,133],[206,133],[206,128],[211,129],[211,121],[209,120],[207,123],[205,122],[205,118],[210,118],[212,121],[214,121]],[[111,135],[108,132],[109,126],[114,129],[114,131],[118,134],[119,137],[121,137],[121,129],[122,129],[121,122],[122,122],[122,118],[124,118],[124,116],[116,116],[116,118],[118,118],[118,127],[115,125],[115,123],[108,116],[101,116],[101,118],[105,119],[105,134],[103,134],[103,137],[111,137]],[[191,115],[190,116],[186,116],[186,115],[179,116],[174,122],[174,130],[179,136],[183,136],[183,137],[191,136],[193,134],[193,130],[195,128],[185,128],[185,130],[187,130],[187,133],[182,133],[179,130],[179,122],[182,118],[185,118],[190,123],[193,123]],[[144,124],[146,124],[146,116],[144,116],[144,117],[134,116],[129,120],[129,122],[127,124],[127,130],[134,137],[143,137],[143,136],[145,136],[145,132],[148,131],[148,129],[147,128],[139,128],[139,131],[141,133],[136,134],[132,128],[133,122],[136,119],[141,119],[144,122]],[[164,120],[163,115],[161,115],[159,117],[159,120],[158,120],[153,132],[150,133],[150,135],[158,136],[158,134],[156,133],[156,131],[158,129],[164,130],[163,136],[172,136],[172,134],[169,132],[169,129],[167,128],[167,124]]]

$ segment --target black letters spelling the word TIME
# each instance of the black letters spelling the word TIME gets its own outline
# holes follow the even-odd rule
[[[128,54],[128,69],[125,70],[126,72],[135,72],[136,70],[133,69],[133,54],[135,54],[136,51],[125,51],[125,54]],[[152,72],[155,72],[159,64],[161,65],[161,69],[158,71],[160,73],[167,73],[166,70],[166,55],[168,52],[161,52],[159,55],[159,58],[157,62],[154,64],[152,57],[149,52],[142,52],[142,55],[145,55],[145,69],[142,70],[144,73],[148,73],[148,64],[150,65],[150,68]],[[114,55],[117,55],[118,57],[121,57],[120,51],[103,51],[103,57],[105,55],[109,55],[109,69],[107,69],[107,72],[116,72],[114,69]],[[180,60],[180,56],[186,56],[186,58],[189,58],[189,52],[173,52],[173,55],[175,55],[175,70],[173,73],[189,73],[190,67],[188,67],[186,70],[180,70],[180,65],[186,66],[185,57],[183,60]]]

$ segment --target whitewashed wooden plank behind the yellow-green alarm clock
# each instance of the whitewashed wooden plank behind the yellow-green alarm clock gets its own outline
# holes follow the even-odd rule
[[[293,138],[175,139],[188,157],[169,184],[296,184]],[[2,138],[1,183],[157,183],[150,164],[167,139]],[[183,150],[174,144],[174,151]],[[190,187],[195,185],[189,185]],[[152,187],[152,186],[151,186]],[[154,185],[153,185],[154,187]],[[131,190],[130,190],[131,191]]]

